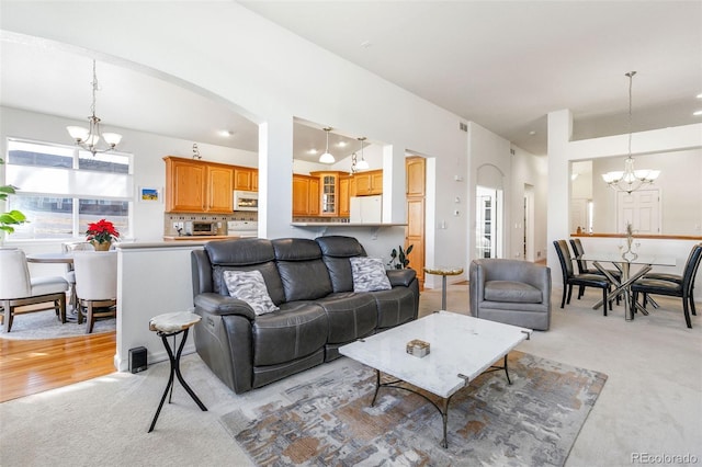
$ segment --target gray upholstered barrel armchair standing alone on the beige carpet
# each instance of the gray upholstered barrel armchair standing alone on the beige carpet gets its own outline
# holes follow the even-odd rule
[[[551,326],[551,269],[528,261],[471,262],[471,315],[547,331]]]

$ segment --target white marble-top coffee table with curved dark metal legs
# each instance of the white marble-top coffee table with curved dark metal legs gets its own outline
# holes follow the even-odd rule
[[[507,354],[520,342],[529,339],[532,330],[473,318],[450,311],[437,311],[397,328],[360,339],[339,349],[342,355],[370,366],[376,372],[375,403],[381,387],[395,387],[417,392],[424,389],[443,399],[443,407],[431,402],[443,418],[443,440],[448,446],[446,421],[451,397],[486,371],[505,369]],[[419,339],[430,344],[423,357],[407,353],[407,342]],[[503,358],[503,366],[494,366]],[[382,383],[381,373],[397,380]],[[412,387],[408,387],[409,384]]]

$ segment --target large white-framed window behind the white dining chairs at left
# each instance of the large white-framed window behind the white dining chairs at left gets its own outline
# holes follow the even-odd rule
[[[5,183],[18,187],[8,209],[30,220],[8,240],[82,238],[89,223],[106,218],[128,236],[134,196],[132,156],[70,146],[8,140]]]

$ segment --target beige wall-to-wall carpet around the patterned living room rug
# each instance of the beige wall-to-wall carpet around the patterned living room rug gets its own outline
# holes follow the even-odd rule
[[[609,317],[592,310],[598,298],[591,291],[562,310],[561,291],[554,289],[551,331],[535,332],[518,348],[608,375],[566,466],[631,466],[641,453],[702,459],[702,319],[692,317],[694,328],[687,329],[680,300],[661,298],[661,309],[626,322],[621,306]],[[429,312],[440,303],[440,291],[427,291],[420,308]],[[448,305],[467,312],[467,286],[450,286]],[[167,364],[15,399],[0,405],[0,465],[250,465],[220,417],[240,408],[253,418],[252,407],[275,403],[285,388],[330,369],[321,365],[236,396],[189,355],[183,374],[210,411],[200,411],[177,385],[173,403],[150,434]]]

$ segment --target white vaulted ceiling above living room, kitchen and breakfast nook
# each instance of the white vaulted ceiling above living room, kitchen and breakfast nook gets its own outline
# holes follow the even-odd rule
[[[536,155],[552,111],[573,111],[576,139],[626,133],[632,70],[634,130],[702,122],[692,115],[702,110],[700,1],[240,3]],[[0,104],[83,119],[91,67],[3,36]],[[99,62],[98,76],[109,124],[257,150],[256,125],[222,102],[118,64]],[[324,148],[324,132],[302,130],[296,157]]]

